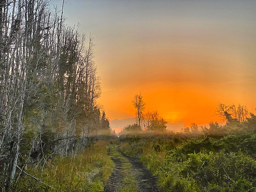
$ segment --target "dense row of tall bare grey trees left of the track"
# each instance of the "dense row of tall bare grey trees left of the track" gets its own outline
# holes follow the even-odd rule
[[[100,79],[93,37],[84,46],[85,35],[65,25],[65,1],[61,11],[52,11],[50,2],[0,2],[3,191],[11,190],[28,164],[45,164],[54,154],[72,157],[99,130],[110,134],[109,120],[96,103]]]

